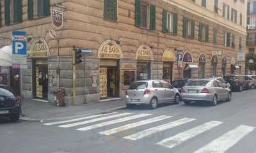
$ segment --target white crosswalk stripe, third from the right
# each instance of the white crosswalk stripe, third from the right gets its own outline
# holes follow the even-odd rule
[[[158,132],[164,131],[166,129],[174,128],[176,126],[186,124],[193,120],[196,120],[196,119],[183,118],[180,120],[175,120],[173,122],[169,122],[169,123],[163,124],[161,126],[156,126],[156,127],[150,128],[150,129],[145,129],[145,130],[135,133],[133,135],[125,136],[124,138],[129,139],[129,140],[139,140],[141,138],[144,138],[145,136],[153,135],[154,133],[158,133]]]

